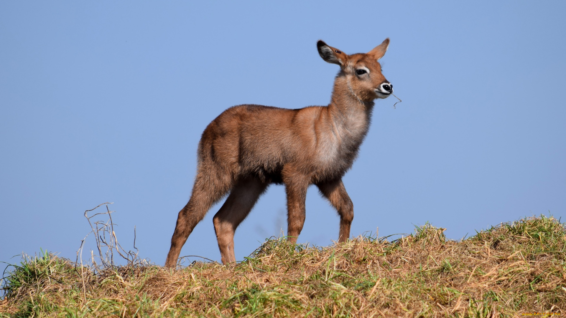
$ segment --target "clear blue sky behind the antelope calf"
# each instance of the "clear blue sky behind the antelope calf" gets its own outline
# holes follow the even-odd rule
[[[351,234],[429,221],[459,239],[533,214],[566,216],[565,2],[0,2],[0,261],[75,258],[84,210],[114,202],[122,244],[163,264],[203,129],[238,104],[326,105],[346,53],[391,38],[344,183]],[[182,255],[220,260],[212,216]],[[235,235],[238,260],[286,230],[283,187]],[[299,242],[338,217],[310,188]],[[11,262],[18,260],[12,259]]]

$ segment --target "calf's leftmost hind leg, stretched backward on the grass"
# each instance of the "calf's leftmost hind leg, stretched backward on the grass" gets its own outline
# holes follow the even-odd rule
[[[231,179],[227,174],[220,171],[210,171],[199,167],[199,172],[195,178],[195,185],[192,187],[191,199],[185,205],[179,216],[173,237],[171,237],[171,248],[165,261],[165,267],[175,267],[181,248],[185,244],[188,235],[191,234],[196,224],[200,222],[208,210],[216,201],[230,190]]]

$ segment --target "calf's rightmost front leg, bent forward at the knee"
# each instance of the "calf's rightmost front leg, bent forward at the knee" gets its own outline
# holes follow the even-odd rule
[[[331,182],[318,183],[320,193],[330,201],[340,215],[340,234],[338,242],[346,242],[350,237],[350,226],[354,220],[354,204],[344,188],[342,179]]]

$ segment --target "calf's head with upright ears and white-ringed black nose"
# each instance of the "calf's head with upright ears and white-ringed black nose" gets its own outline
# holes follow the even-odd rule
[[[345,76],[352,93],[363,101],[387,98],[393,93],[393,85],[381,74],[378,59],[383,57],[389,46],[389,38],[368,53],[348,55],[327,45],[324,41],[316,44],[320,57],[328,63],[340,65],[340,76]]]

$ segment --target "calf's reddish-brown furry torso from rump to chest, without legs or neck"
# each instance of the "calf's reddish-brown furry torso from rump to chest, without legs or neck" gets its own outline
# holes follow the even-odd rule
[[[355,153],[341,147],[337,134],[327,106],[238,105],[208,125],[199,156],[221,165],[234,179],[252,174],[281,183],[281,169],[291,164],[315,182],[344,174],[353,162]]]

